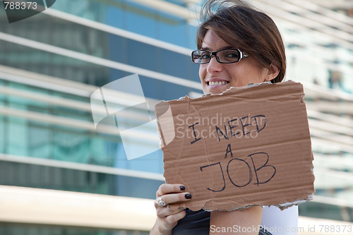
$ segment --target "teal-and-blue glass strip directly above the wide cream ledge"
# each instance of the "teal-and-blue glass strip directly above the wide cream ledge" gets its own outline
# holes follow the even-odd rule
[[[155,198],[159,180],[0,161],[0,184],[83,193]]]

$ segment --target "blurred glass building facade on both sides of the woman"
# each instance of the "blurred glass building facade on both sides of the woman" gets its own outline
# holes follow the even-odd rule
[[[163,183],[162,151],[126,159],[121,137],[97,131],[90,109],[92,92],[133,71],[138,71],[143,93],[151,100],[201,94],[201,86],[195,85],[198,66],[189,56],[196,47],[195,23],[172,13],[168,4],[176,9],[193,7],[170,0],[157,9],[147,2],[61,0],[50,11],[16,23],[8,23],[0,6],[0,185],[155,198]],[[316,195],[349,201],[353,197],[352,47],[329,40],[321,43],[314,36],[308,39],[305,30],[274,19],[286,43],[287,80],[309,83],[305,99],[311,111]],[[135,121],[138,115],[126,122]],[[149,147],[143,138],[132,144]],[[137,173],[131,176],[116,169]],[[342,208],[322,199],[300,205],[299,213],[353,221],[352,206]],[[0,224],[0,234],[25,231],[146,234]]]

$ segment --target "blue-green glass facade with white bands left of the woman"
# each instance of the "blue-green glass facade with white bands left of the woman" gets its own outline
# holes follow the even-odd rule
[[[189,39],[194,28],[186,20],[129,1],[56,1],[52,9],[171,45],[193,47]],[[123,64],[123,68],[135,66],[198,81],[198,66],[191,63],[189,54],[47,13],[9,24],[1,8],[0,19],[0,32],[16,38],[0,38],[0,65],[16,71],[17,78],[20,77],[0,75],[0,86],[5,90],[0,95],[3,109],[0,152],[4,156],[0,159],[0,185],[155,198],[155,191],[163,183],[162,152],[128,161],[119,135],[92,128],[90,95],[94,88],[131,75],[130,71],[116,68],[115,62]],[[31,78],[27,71],[33,74]],[[39,75],[46,76],[44,82],[36,80]],[[145,97],[154,100],[172,100],[199,91],[148,76],[139,77]],[[59,80],[59,84],[50,78]],[[89,89],[79,88],[80,92],[76,92],[71,84],[85,84]],[[136,147],[145,144],[137,142]],[[53,162],[33,163],[31,158]],[[74,169],[75,165],[66,163],[83,164],[83,167]],[[99,167],[108,167],[108,170],[101,171]],[[138,171],[142,176],[126,176],[109,169]],[[143,172],[157,173],[160,177],[145,178]],[[6,234],[16,235],[25,231],[146,234],[145,231],[84,231],[18,224],[1,224],[0,228]]]

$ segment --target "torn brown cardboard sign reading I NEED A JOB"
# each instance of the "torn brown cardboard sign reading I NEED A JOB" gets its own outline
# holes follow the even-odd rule
[[[181,183],[191,210],[310,200],[313,155],[300,83],[231,88],[155,107],[167,183]]]

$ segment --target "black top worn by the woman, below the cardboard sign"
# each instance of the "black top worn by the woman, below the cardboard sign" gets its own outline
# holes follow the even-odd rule
[[[173,235],[208,235],[210,234],[210,212],[205,210],[186,210],[186,216],[180,219],[173,229]],[[260,229],[259,235],[272,235]]]

